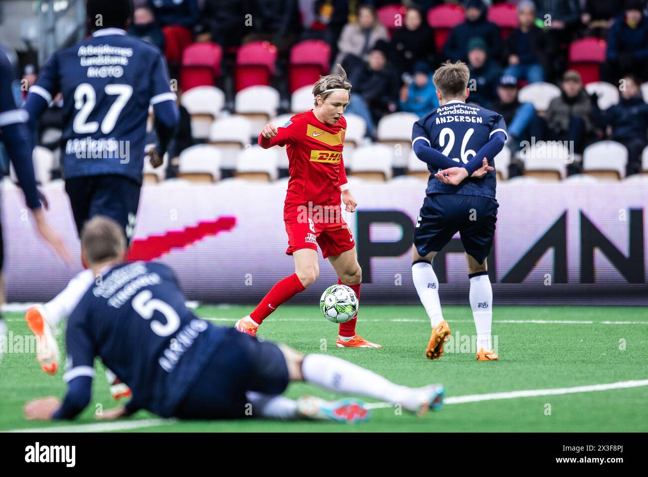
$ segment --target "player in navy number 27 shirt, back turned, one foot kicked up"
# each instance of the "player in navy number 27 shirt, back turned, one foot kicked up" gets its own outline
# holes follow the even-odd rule
[[[35,127],[52,97],[63,93],[62,164],[76,229],[80,234],[88,219],[106,215],[119,223],[128,241],[135,228],[143,162],[148,158],[154,167],[161,165],[178,121],[163,56],[156,47],[126,35],[132,11],[131,0],[86,0],[92,35],[52,55],[24,106]],[[157,145],[146,145],[150,106]],[[89,270],[82,271],[50,302],[27,310],[25,320],[40,337],[36,356],[46,373],[58,369],[56,326],[94,280]],[[115,398],[128,393],[117,384]]]

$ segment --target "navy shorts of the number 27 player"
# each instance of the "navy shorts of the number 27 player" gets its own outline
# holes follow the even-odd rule
[[[134,180],[114,174],[66,179],[65,192],[70,198],[79,237],[89,219],[95,215],[106,215],[122,226],[130,243],[141,188]]]

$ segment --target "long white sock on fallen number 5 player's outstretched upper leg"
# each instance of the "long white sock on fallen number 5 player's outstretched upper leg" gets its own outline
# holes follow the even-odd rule
[[[364,395],[392,403],[402,402],[412,392],[409,387],[394,384],[380,374],[327,354],[307,354],[301,365],[301,374],[305,381],[330,391]]]

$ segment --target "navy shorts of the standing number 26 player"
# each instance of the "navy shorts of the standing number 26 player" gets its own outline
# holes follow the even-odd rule
[[[426,196],[414,229],[419,255],[439,252],[459,232],[466,253],[483,263],[491,252],[498,207],[495,199],[478,195]]]

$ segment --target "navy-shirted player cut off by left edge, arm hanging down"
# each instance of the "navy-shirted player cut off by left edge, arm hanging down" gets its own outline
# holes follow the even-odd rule
[[[0,141],[5,145],[9,158],[16,170],[16,176],[23,193],[25,201],[31,209],[36,224],[36,230],[40,236],[54,248],[64,260],[71,262],[71,258],[62,239],[52,230],[45,219],[41,208],[41,199],[36,188],[34,177],[34,164],[32,162],[32,150],[30,149],[30,132],[27,128],[29,115],[27,112],[17,108],[14,95],[11,90],[12,81],[15,79],[14,67],[5,51],[0,47]],[[2,225],[0,224],[0,306],[5,302],[4,284],[2,280],[2,262],[4,258]],[[5,349],[6,325],[0,313],[0,360],[3,349]]]

